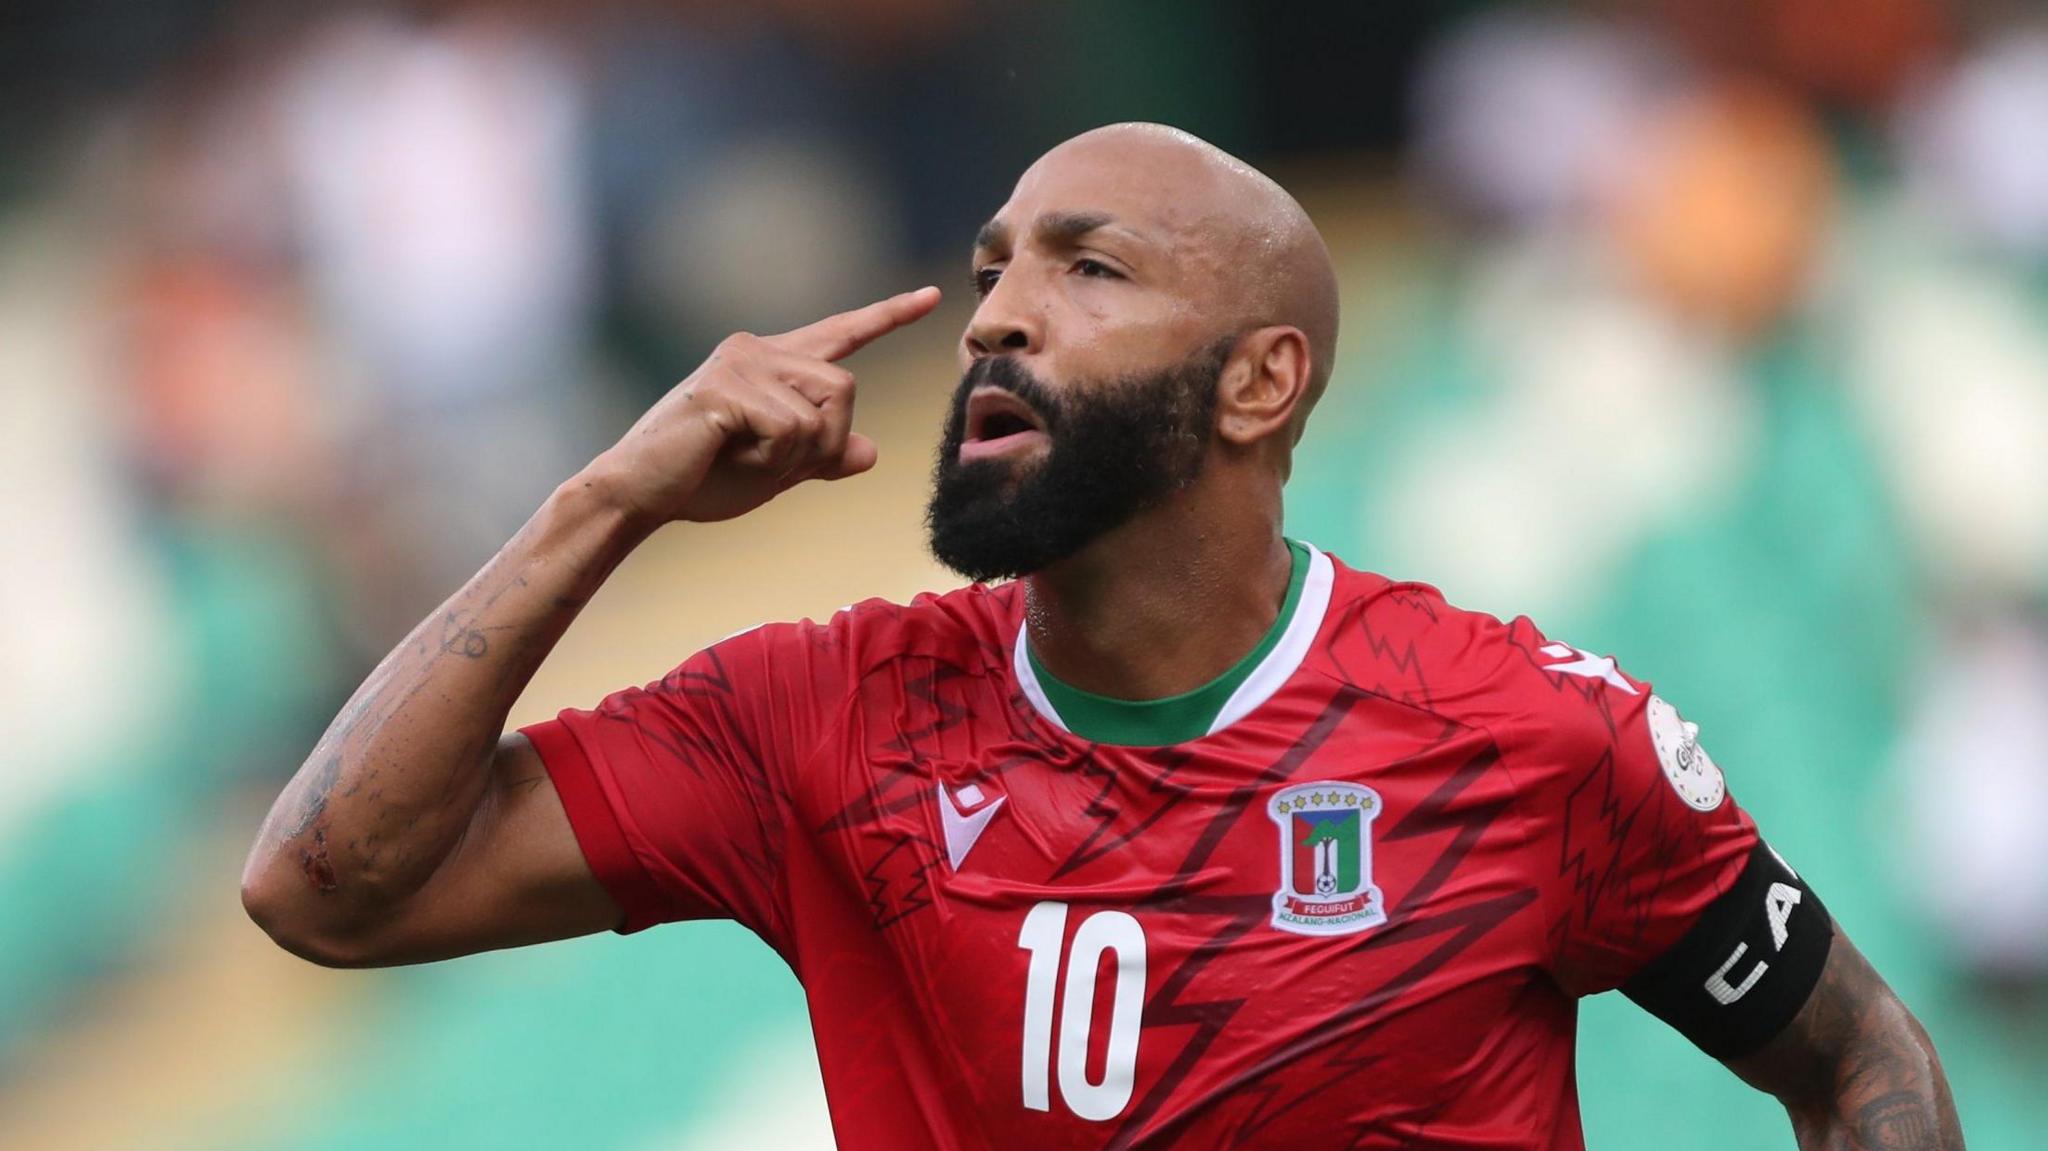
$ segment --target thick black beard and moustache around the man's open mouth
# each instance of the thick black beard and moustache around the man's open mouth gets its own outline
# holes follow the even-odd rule
[[[1208,459],[1225,338],[1147,375],[1055,393],[1012,356],[975,360],[952,393],[924,520],[940,563],[989,582],[1040,571],[1186,489]],[[1038,414],[1042,459],[961,463],[967,397],[981,385]]]

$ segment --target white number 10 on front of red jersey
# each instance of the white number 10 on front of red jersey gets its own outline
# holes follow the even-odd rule
[[[1024,977],[1024,1106],[1051,1110],[1053,985],[1067,938],[1067,905],[1038,903],[1024,915],[1018,946],[1030,952]],[[1116,954],[1116,999],[1110,1004],[1110,1051],[1102,1081],[1087,1081],[1087,1028],[1096,1022],[1096,969],[1102,952]],[[1090,1120],[1116,1118],[1130,1102],[1139,1067],[1139,1014],[1145,1010],[1145,930],[1122,911],[1096,911],[1073,932],[1067,993],[1059,1014],[1059,1098]]]

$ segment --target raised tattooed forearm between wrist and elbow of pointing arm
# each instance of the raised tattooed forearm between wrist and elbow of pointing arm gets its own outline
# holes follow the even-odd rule
[[[557,487],[356,688],[270,807],[246,899],[348,924],[418,891],[469,827],[512,702],[645,532],[596,471]]]

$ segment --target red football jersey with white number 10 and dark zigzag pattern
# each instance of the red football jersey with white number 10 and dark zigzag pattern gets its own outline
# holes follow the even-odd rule
[[[1575,999],[1757,842],[1649,684],[1311,551],[1210,733],[1122,748],[1022,608],[870,600],[526,727],[621,930],[780,952],[850,1149],[1581,1147]]]

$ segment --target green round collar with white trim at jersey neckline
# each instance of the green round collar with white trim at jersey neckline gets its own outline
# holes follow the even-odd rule
[[[1036,680],[1036,688],[1044,692],[1044,702],[1057,713],[1055,719],[1081,739],[1092,739],[1096,743],[1122,743],[1130,748],[1163,748],[1169,743],[1200,739],[1219,727],[1219,719],[1231,698],[1237,696],[1239,688],[1245,686],[1245,680],[1249,680],[1253,672],[1257,672],[1260,666],[1274,655],[1274,649],[1280,647],[1280,639],[1294,623],[1296,610],[1303,602],[1303,588],[1309,584],[1313,561],[1305,545],[1292,539],[1286,541],[1286,545],[1294,555],[1294,567],[1288,573],[1286,598],[1280,602],[1280,614],[1274,616],[1274,625],[1266,629],[1266,637],[1260,639],[1257,647],[1247,651],[1245,657],[1233,664],[1229,672],[1217,676],[1200,688],[1151,700],[1126,700],[1083,692],[1081,688],[1059,682],[1051,672],[1047,672],[1044,664],[1038,662],[1038,653],[1030,649],[1030,643],[1022,633],[1018,635],[1018,643],[1024,647],[1024,659],[1020,664],[1028,664],[1028,672],[1032,680]],[[1327,600],[1329,588],[1325,578],[1321,598],[1315,604],[1315,614],[1319,616],[1317,623],[1321,623],[1323,604],[1327,604]],[[1300,653],[1294,653],[1294,664],[1298,662]],[[1026,668],[1018,670],[1024,672]],[[1284,670],[1284,674],[1290,672],[1292,666]],[[1284,674],[1280,678],[1284,678]],[[1268,694],[1272,692],[1268,690]]]

